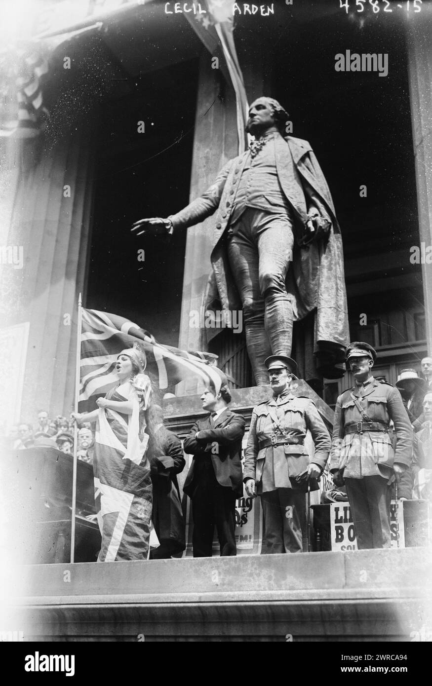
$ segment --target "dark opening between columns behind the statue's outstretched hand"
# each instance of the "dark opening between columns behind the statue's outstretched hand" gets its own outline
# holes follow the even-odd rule
[[[166,246],[130,228],[189,201],[196,79],[195,60],[147,73],[137,78],[134,97],[106,102],[98,127],[86,307],[130,318],[172,345],[179,338],[186,233]],[[141,249],[144,262],[137,259]]]

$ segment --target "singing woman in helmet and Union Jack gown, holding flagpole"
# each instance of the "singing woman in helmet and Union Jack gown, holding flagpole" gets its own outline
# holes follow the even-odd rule
[[[117,386],[98,398],[98,410],[73,413],[78,425],[95,422],[95,506],[102,534],[98,562],[146,560],[152,484],[144,411],[150,405],[146,355],[139,346],[117,356]]]

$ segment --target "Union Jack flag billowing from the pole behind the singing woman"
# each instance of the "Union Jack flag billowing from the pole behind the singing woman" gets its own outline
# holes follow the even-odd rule
[[[215,368],[207,364],[205,353],[188,353],[162,345],[124,317],[82,308],[81,322],[80,412],[93,410],[95,400],[118,382],[117,355],[134,343],[146,353],[146,374],[155,388],[165,390],[192,378],[206,384],[218,383],[220,379]]]

